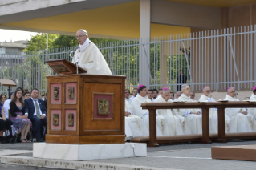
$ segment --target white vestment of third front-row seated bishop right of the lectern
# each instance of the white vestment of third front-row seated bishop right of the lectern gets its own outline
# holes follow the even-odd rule
[[[166,102],[162,95],[159,95],[154,103],[156,102]],[[173,102],[171,99],[168,99],[167,102]],[[173,109],[157,109],[156,112],[159,115],[163,115],[167,121],[169,128],[169,133],[173,136],[180,135],[189,135],[191,134],[189,130],[189,125],[184,117],[177,115]]]

